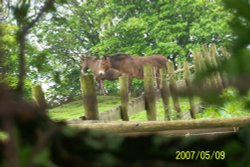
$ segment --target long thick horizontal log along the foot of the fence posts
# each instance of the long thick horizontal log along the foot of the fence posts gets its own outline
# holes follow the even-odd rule
[[[177,121],[110,122],[110,123],[71,123],[71,126],[84,129],[104,130],[115,133],[156,132],[218,127],[242,127],[250,125],[250,116],[227,119],[200,119]]]

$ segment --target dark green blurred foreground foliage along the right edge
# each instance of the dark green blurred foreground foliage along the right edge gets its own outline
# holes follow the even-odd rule
[[[229,21],[229,25],[233,30],[232,35],[234,39],[230,47],[231,56],[228,57],[228,59],[222,59],[218,68],[208,67],[205,72],[201,72],[196,78],[204,79],[219,71],[219,73],[226,78],[227,84],[230,87],[234,87],[237,91],[230,90],[229,92],[224,92],[222,97],[219,95],[221,93],[220,91],[208,91],[206,92],[207,97],[205,100],[209,103],[219,103],[226,107],[226,113],[230,110],[235,110],[235,106],[238,106],[239,113],[246,112],[247,114],[249,111],[249,102],[245,99],[248,98],[247,93],[250,83],[250,39],[248,38],[250,35],[250,4],[245,0],[237,1],[237,3],[233,0],[224,0],[223,2],[225,3],[225,7],[233,13]],[[220,55],[217,56],[220,57]],[[211,94],[211,92],[213,92],[213,94]],[[238,99],[234,98],[235,94],[237,94]],[[228,100],[230,101],[229,103],[227,102]],[[242,103],[246,103],[246,105]],[[224,111],[217,111],[225,113]]]

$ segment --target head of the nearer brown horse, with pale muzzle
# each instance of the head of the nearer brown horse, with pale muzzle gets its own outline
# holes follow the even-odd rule
[[[111,68],[111,63],[109,57],[103,56],[97,60],[98,75],[104,77],[106,71]]]

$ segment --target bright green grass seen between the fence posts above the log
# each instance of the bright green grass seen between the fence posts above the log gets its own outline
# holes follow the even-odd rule
[[[249,116],[250,111],[249,108],[246,108],[246,104],[250,104],[250,96],[239,98],[234,93],[229,92],[231,94],[226,94],[226,101],[223,105],[208,105],[206,108],[200,113],[196,114],[198,119],[202,118],[230,118],[237,116]],[[98,109],[99,112],[104,112],[114,107],[120,105],[120,97],[119,96],[98,96]],[[199,98],[195,98],[195,104],[199,104]],[[179,98],[179,103],[181,106],[182,112],[189,111],[189,101],[187,98]],[[250,105],[249,105],[250,106]],[[170,98],[170,115],[171,119],[176,119],[176,111],[173,107],[172,99]],[[157,120],[164,120],[164,109],[161,100],[157,101]],[[78,99],[68,104],[61,105],[59,107],[53,108],[49,110],[49,116],[53,120],[69,120],[69,119],[78,119],[84,115],[83,102]],[[146,121],[146,111],[139,112],[130,116],[131,121]]]

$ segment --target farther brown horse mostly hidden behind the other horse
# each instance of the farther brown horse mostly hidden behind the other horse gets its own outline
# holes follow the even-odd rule
[[[102,61],[97,57],[81,57],[82,73],[84,74],[88,71],[88,69],[90,69],[93,72],[96,81],[98,82],[100,94],[105,95],[103,84],[104,80],[117,80],[122,75],[122,73],[113,68],[109,68],[105,69],[105,75],[100,75],[100,68],[102,66],[101,63]]]

